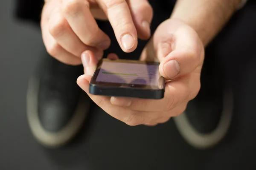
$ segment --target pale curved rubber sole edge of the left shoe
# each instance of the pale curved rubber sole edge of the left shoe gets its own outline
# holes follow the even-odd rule
[[[78,107],[70,122],[59,132],[49,133],[42,127],[38,117],[38,89],[39,80],[30,79],[27,91],[27,118],[32,134],[42,145],[46,147],[60,147],[67,144],[83,125],[84,119],[89,111],[90,99],[81,95]]]

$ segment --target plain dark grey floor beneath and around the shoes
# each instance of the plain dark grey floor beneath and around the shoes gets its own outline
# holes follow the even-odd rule
[[[96,106],[70,146],[41,147],[27,125],[26,86],[44,48],[39,31],[12,19],[13,5],[0,0],[0,170],[256,169],[256,56],[241,62],[248,69],[236,70],[233,124],[212,150],[190,147],[172,120],[157,127],[129,127]]]

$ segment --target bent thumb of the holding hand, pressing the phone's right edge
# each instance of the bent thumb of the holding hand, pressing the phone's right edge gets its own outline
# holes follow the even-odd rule
[[[165,35],[163,35],[165,36]],[[175,79],[189,74],[195,69],[201,71],[204,47],[192,28],[180,28],[173,34],[171,43],[163,41],[157,45],[160,59],[159,71],[166,79]]]

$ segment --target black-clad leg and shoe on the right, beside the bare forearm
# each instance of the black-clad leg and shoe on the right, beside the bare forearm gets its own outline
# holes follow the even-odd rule
[[[178,130],[194,147],[208,148],[226,135],[233,114],[233,83],[241,67],[240,58],[253,48],[255,1],[238,11],[218,37],[206,48],[201,90],[184,114],[175,118]],[[250,15],[248,15],[250,13]],[[254,37],[254,38],[252,38]],[[247,54],[250,55],[250,54]]]

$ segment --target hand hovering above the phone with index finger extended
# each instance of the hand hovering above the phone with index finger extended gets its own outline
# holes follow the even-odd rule
[[[93,51],[100,59],[111,43],[95,19],[109,20],[122,50],[131,52],[138,37],[150,37],[152,17],[148,0],[45,0],[42,37],[52,57],[79,65],[83,51]]]

